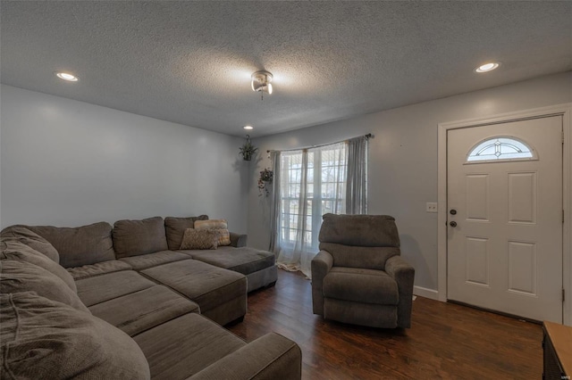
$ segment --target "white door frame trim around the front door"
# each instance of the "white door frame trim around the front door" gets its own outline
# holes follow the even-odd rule
[[[437,143],[437,299],[447,302],[447,132],[450,129],[473,128],[502,122],[562,116],[562,287],[566,292],[562,305],[563,321],[572,326],[572,103],[557,104],[517,112],[501,113],[485,118],[456,120],[438,124]]]

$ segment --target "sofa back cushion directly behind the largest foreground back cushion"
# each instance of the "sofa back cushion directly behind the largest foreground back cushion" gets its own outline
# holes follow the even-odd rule
[[[74,293],[60,277],[46,269],[26,261],[2,260],[1,264],[0,293],[36,292],[49,300],[65,303],[89,314],[88,308],[81,303],[78,294]]]

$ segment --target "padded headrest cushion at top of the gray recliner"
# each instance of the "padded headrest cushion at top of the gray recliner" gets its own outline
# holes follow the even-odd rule
[[[320,243],[400,247],[400,235],[395,219],[388,215],[325,214],[322,218],[324,221],[318,235]]]

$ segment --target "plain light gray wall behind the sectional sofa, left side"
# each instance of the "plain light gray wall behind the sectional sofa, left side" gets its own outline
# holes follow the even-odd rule
[[[246,232],[239,137],[1,87],[2,227],[206,213]]]

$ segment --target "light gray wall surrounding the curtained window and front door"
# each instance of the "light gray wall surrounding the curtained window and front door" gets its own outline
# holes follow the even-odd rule
[[[263,154],[250,169],[248,243],[267,249],[270,238],[269,198],[258,197],[256,186],[258,171],[271,166],[266,150],[373,133],[368,212],[395,217],[402,255],[416,268],[416,286],[436,290],[437,214],[425,212],[425,202],[437,201],[437,125],[569,102],[572,72],[258,138],[253,143]]]

